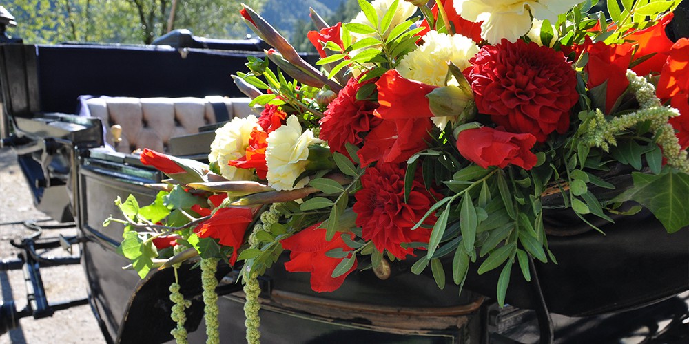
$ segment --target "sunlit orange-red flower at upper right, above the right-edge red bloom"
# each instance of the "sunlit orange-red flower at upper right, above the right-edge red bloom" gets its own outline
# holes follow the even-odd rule
[[[672,21],[672,17],[674,17],[674,14],[670,12],[650,28],[639,30],[624,38],[626,41],[634,42],[633,44],[638,46],[637,52],[634,53],[635,60],[649,54],[655,54],[648,58],[648,60],[631,68],[637,75],[660,72],[660,69],[665,64],[670,47],[672,47],[672,41],[668,39],[665,27]]]

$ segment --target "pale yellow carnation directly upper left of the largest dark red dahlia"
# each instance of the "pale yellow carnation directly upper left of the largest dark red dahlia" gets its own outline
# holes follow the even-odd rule
[[[474,41],[460,34],[450,36],[429,31],[423,39],[418,49],[402,58],[397,70],[404,78],[433,86],[445,85],[447,63],[464,70],[479,50]]]

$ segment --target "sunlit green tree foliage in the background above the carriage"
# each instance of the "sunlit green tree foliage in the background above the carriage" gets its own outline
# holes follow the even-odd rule
[[[26,43],[63,41],[151,43],[167,32],[174,0],[14,0],[6,8],[17,18],[12,36]],[[245,0],[259,10],[266,0]],[[236,39],[247,30],[240,1],[177,0],[173,28],[197,36]]]

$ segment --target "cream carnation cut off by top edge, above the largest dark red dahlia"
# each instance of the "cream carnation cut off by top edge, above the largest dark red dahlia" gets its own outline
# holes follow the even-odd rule
[[[455,0],[455,10],[466,20],[479,22],[481,37],[488,43],[501,39],[515,42],[531,29],[531,17],[557,21],[579,0]]]

